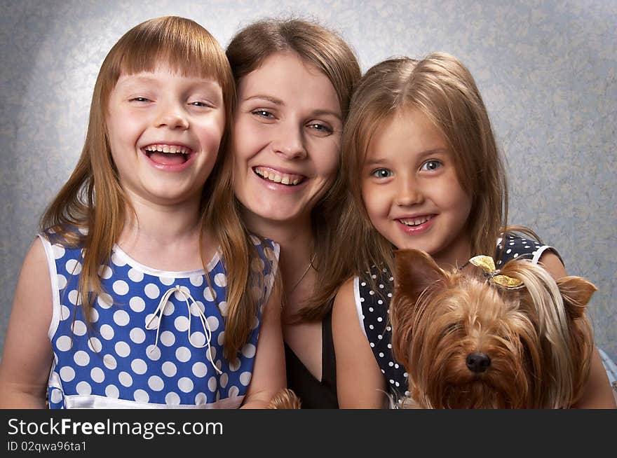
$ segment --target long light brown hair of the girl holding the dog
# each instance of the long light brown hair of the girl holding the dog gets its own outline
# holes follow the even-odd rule
[[[372,265],[393,271],[393,244],[372,226],[361,193],[362,167],[378,128],[406,109],[427,116],[454,155],[456,176],[472,200],[465,230],[472,254],[493,254],[506,226],[506,173],[487,109],[473,76],[452,55],[385,60],[362,76],[353,95],[342,141],[341,165],[348,193],[339,227],[339,275],[360,275]],[[332,277],[332,282],[344,281]]]

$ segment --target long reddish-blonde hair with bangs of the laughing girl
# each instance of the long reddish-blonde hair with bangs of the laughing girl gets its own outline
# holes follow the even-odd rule
[[[86,319],[91,323],[93,301],[103,292],[99,267],[109,262],[123,226],[135,215],[111,158],[106,125],[109,95],[121,75],[154,71],[160,64],[167,64],[183,76],[210,78],[222,88],[225,133],[217,162],[202,192],[200,244],[203,246],[206,233],[213,233],[221,246],[222,257],[233,260],[226,265],[228,312],[224,341],[224,354],[233,360],[250,333],[256,313],[255,302],[248,293],[252,289],[247,287],[248,258],[254,248],[229,201],[217,200],[221,195],[216,192],[216,179],[224,160],[236,90],[224,50],[201,25],[175,16],[154,18],[130,29],[111,48],[95,83],[81,156],[67,183],[41,217],[40,228],[53,231],[54,237],[67,246],[83,247],[79,297]],[[213,217],[215,211],[221,214]],[[229,226],[221,228],[224,223]],[[208,260],[203,259],[203,253],[202,261],[205,268]]]

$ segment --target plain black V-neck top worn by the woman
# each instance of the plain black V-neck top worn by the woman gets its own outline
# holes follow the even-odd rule
[[[304,366],[290,347],[285,344],[287,387],[301,401],[303,409],[337,409],[337,364],[332,341],[332,307],[321,324],[321,382]]]

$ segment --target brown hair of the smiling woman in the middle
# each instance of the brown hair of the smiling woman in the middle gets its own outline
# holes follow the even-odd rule
[[[264,60],[276,53],[295,53],[304,62],[312,64],[332,83],[337,93],[339,106],[345,120],[348,106],[361,76],[360,65],[351,47],[336,32],[315,22],[299,19],[261,20],[240,30],[231,39],[226,54],[231,64],[236,84],[243,76],[259,68]],[[233,156],[233,155],[232,155]],[[229,169],[233,169],[233,158],[229,158]],[[340,159],[339,159],[340,164]],[[332,276],[332,252],[334,245],[336,220],[340,214],[342,176],[337,172],[334,185],[323,195],[313,208],[311,222],[315,259],[313,267],[317,270],[316,285],[322,285]],[[339,190],[334,193],[333,190]],[[233,182],[229,181],[229,192],[233,193]],[[240,206],[235,200],[236,206]],[[332,291],[333,293],[333,291]],[[299,312],[300,319],[321,319],[329,310],[327,298],[332,293],[325,293],[320,288]]]

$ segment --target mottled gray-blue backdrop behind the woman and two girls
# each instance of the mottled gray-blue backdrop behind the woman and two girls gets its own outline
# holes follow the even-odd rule
[[[363,70],[433,50],[468,65],[508,159],[510,221],[597,284],[597,345],[617,361],[614,0],[0,0],[0,14],[0,345],[22,258],[76,163],[116,40],[143,20],[182,15],[226,46],[252,20],[293,14],[338,29]]]

